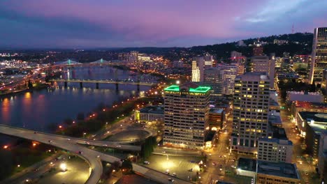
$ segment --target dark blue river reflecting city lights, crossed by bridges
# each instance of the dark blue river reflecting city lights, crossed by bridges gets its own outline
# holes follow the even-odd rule
[[[65,68],[64,79],[129,79],[136,80],[136,75],[129,70],[118,70],[111,67]],[[148,75],[141,77],[143,81],[154,80]],[[75,118],[80,112],[87,114],[100,103],[112,105],[112,102],[130,98],[137,94],[136,85],[119,84],[57,84],[55,88],[26,92],[9,98],[1,98],[0,123],[22,128],[48,132],[50,123],[61,123],[65,118]],[[150,86],[140,86],[146,91]]]

